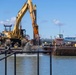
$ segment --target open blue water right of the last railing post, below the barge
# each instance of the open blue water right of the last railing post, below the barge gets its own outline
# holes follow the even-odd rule
[[[53,75],[76,75],[76,56],[53,56]]]

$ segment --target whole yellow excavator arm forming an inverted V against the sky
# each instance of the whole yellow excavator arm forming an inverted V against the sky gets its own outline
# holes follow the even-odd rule
[[[32,0],[28,0],[27,3],[23,5],[21,10],[19,11],[17,17],[16,17],[16,23],[13,29],[13,34],[16,37],[21,37],[19,32],[20,22],[24,14],[29,10],[31,20],[32,20],[32,27],[33,27],[33,38],[36,39],[36,36],[39,35],[38,32],[38,25],[36,24],[36,13],[34,12],[36,10],[36,6],[33,5]]]

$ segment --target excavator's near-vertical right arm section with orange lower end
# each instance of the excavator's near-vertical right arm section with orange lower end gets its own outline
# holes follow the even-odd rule
[[[33,6],[31,0],[29,0],[28,3],[29,3],[28,9],[32,20],[33,38],[36,39],[37,36],[39,36],[38,25],[36,23],[36,5]]]

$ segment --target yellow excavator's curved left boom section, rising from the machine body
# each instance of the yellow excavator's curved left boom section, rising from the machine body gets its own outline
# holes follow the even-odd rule
[[[20,31],[19,31],[20,22],[27,10],[28,10],[28,4],[25,3],[23,5],[23,7],[21,8],[21,10],[18,12],[18,15],[16,17],[16,22],[15,22],[13,33],[12,33],[12,35],[14,35],[14,37],[18,37],[18,36],[21,37]]]

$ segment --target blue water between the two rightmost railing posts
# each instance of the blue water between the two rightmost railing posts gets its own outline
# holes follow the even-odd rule
[[[49,56],[45,55],[40,58],[40,75],[50,75],[50,60]]]

